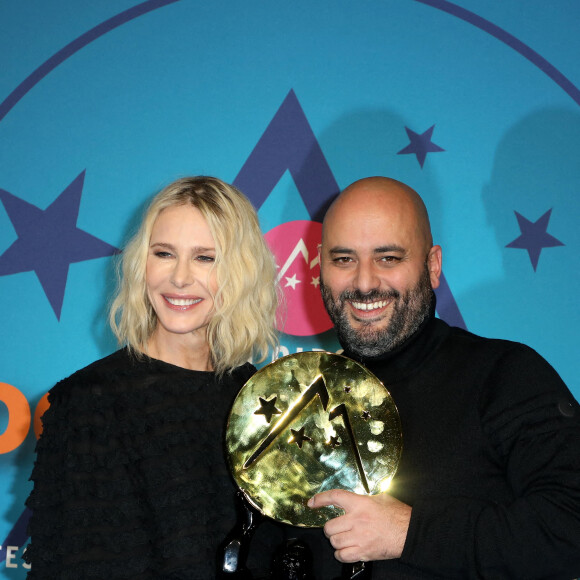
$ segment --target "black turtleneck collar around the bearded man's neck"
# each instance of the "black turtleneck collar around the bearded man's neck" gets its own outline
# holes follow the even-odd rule
[[[449,326],[435,317],[435,300],[429,315],[419,328],[397,348],[375,357],[360,357],[349,351],[346,345],[344,355],[360,362],[371,372],[380,371],[383,380],[395,382],[416,372],[434,353],[449,333]]]

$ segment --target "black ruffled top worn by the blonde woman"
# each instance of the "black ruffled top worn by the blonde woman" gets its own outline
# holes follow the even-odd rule
[[[235,521],[223,433],[254,372],[218,380],[123,349],[59,382],[27,501],[28,578],[214,578]]]

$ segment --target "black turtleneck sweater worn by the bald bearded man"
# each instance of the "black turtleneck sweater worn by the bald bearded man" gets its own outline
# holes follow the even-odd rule
[[[402,557],[374,578],[580,576],[580,409],[531,348],[431,316],[362,362],[399,409],[391,493],[412,506]]]

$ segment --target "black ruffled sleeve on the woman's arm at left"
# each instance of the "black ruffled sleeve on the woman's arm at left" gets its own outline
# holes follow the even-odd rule
[[[28,578],[141,577],[147,540],[130,458],[113,434],[115,398],[73,375],[49,402],[27,500]]]

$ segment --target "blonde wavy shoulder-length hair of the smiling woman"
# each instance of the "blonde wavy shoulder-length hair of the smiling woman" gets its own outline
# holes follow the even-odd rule
[[[145,351],[157,325],[145,281],[151,231],[165,208],[179,205],[201,212],[216,244],[218,290],[207,328],[215,371],[223,374],[248,360],[263,361],[277,345],[276,265],[250,201],[216,177],[184,177],[153,198],[121,255],[118,291],[109,314],[113,332],[137,356]]]

